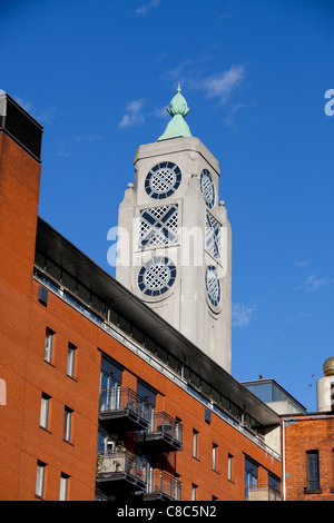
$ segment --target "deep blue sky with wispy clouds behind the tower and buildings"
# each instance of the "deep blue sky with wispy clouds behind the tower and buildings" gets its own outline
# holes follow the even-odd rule
[[[1,0],[0,88],[45,127],[40,216],[98,265],[178,81],[233,227],[233,366],[308,411],[334,355],[334,4]],[[334,108],[334,106],[333,106]]]

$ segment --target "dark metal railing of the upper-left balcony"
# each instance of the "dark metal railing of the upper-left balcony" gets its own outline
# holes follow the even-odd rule
[[[100,392],[100,415],[137,418],[145,427],[150,423],[153,405],[131,388],[108,388]]]

